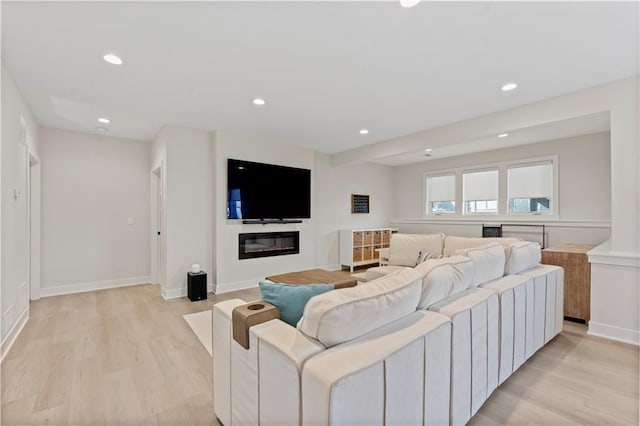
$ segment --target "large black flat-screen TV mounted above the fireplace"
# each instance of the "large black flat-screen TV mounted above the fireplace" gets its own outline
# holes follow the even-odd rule
[[[311,170],[227,161],[227,219],[308,219]]]

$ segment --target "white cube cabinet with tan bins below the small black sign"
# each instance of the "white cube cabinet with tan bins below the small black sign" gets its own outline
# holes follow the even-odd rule
[[[389,247],[395,228],[341,229],[340,264],[353,272],[355,266],[378,263],[378,248]]]

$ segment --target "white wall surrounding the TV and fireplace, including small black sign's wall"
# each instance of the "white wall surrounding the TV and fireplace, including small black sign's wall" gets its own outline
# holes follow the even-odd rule
[[[268,275],[339,267],[338,230],[387,226],[392,206],[390,167],[332,167],[329,156],[264,136],[165,127],[151,145],[151,171],[162,167],[164,185],[164,297],[186,294],[186,273],[199,263],[218,293],[256,286]],[[245,225],[227,220],[227,159],[280,164],[312,170],[312,218],[299,224]],[[150,178],[153,182],[153,177]],[[369,215],[350,213],[350,194],[371,195]],[[151,196],[152,209],[156,203]],[[155,223],[151,223],[152,230]],[[300,253],[238,259],[238,235],[251,232],[300,232]],[[156,244],[153,235],[150,245]],[[152,257],[155,251],[152,250]],[[164,276],[164,278],[163,278]]]

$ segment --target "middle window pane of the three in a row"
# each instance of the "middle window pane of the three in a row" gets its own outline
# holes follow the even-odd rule
[[[465,214],[498,213],[498,170],[462,174]]]

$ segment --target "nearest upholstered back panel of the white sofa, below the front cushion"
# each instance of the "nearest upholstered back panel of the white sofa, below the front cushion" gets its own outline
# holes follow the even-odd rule
[[[451,323],[416,311],[310,358],[303,425],[448,425]]]

